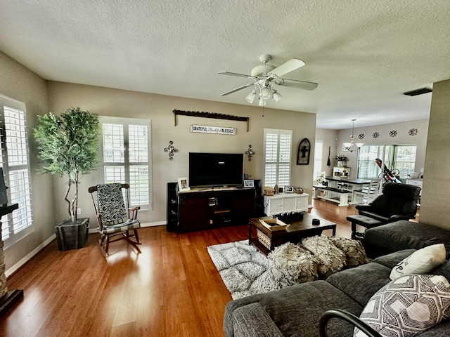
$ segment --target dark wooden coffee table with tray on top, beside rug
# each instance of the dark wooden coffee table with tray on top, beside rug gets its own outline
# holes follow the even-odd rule
[[[276,246],[286,242],[298,244],[305,237],[321,235],[323,230],[333,230],[333,235],[336,234],[335,223],[318,216],[311,216],[309,213],[303,214],[303,220],[292,221],[285,230],[269,230],[259,221],[269,219],[273,219],[273,217],[251,218],[248,223],[248,244],[253,244],[264,255],[269,254]],[[319,219],[319,225],[313,225],[312,219]],[[253,227],[256,228],[257,237],[252,237]]]

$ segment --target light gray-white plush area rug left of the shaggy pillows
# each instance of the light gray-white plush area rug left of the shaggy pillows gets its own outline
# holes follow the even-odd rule
[[[248,240],[216,244],[207,250],[233,300],[281,288],[269,271],[269,259]]]

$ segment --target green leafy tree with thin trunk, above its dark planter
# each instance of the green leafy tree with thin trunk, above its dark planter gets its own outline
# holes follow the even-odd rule
[[[39,115],[34,128],[38,158],[46,163],[39,171],[68,178],[65,201],[72,221],[77,220],[78,185],[82,176],[96,169],[100,124],[97,114],[71,107],[60,116],[49,112]],[[70,189],[75,185],[72,199]]]

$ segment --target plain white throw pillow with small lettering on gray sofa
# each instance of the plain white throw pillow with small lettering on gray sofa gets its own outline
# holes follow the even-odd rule
[[[392,268],[390,279],[398,279],[404,275],[428,274],[445,262],[445,255],[444,244],[433,244],[419,249]]]

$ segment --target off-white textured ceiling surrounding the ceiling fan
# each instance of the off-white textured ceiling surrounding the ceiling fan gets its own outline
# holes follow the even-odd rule
[[[450,78],[449,0],[2,0],[0,50],[44,79],[248,105],[259,55],[306,65],[267,107],[317,114],[317,127],[426,119]],[[253,105],[257,105],[257,100]],[[174,107],[182,108],[182,107]]]

